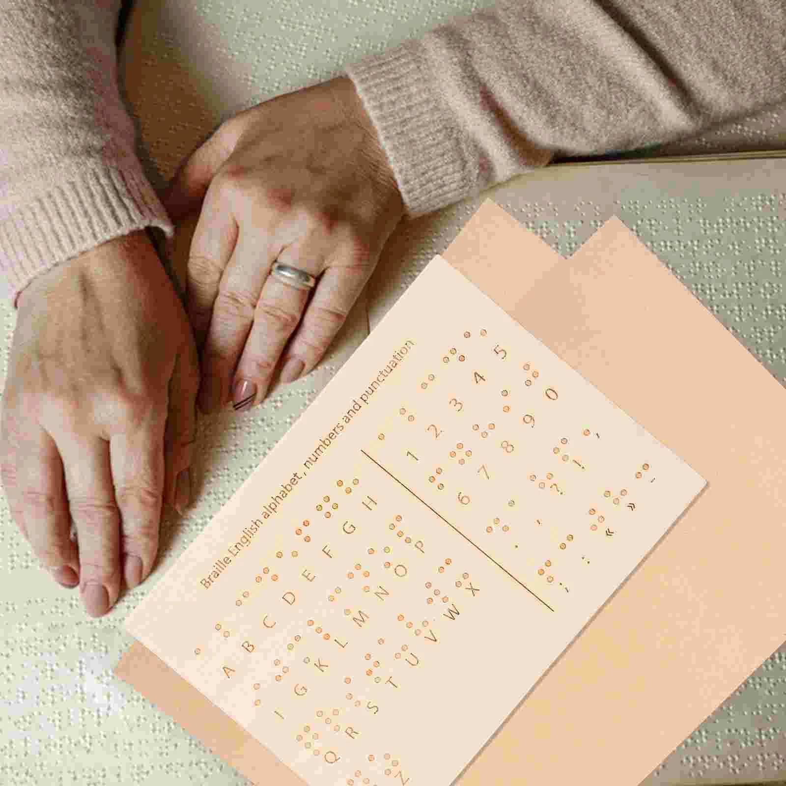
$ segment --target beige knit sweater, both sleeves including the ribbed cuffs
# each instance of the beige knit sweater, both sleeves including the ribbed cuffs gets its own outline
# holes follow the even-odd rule
[[[121,0],[0,2],[0,270],[36,276],[174,226],[119,95]],[[784,0],[501,0],[345,68],[407,215],[564,156],[699,134],[786,101]]]

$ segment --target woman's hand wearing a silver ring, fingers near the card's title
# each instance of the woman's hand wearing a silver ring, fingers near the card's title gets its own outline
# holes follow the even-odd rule
[[[281,382],[314,368],[404,213],[347,77],[222,123],[162,201],[175,222],[201,211],[186,299],[205,413],[230,399],[236,410],[262,402],[282,351]],[[276,260],[318,276],[313,296],[268,277]]]

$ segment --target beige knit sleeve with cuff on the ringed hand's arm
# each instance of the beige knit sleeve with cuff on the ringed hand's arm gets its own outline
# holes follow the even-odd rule
[[[406,211],[786,99],[783,0],[501,0],[351,64]]]

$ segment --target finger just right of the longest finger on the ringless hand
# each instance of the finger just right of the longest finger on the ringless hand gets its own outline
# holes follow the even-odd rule
[[[120,512],[119,552],[129,589],[148,577],[158,553],[166,418],[165,407],[147,407],[109,440],[112,483]]]

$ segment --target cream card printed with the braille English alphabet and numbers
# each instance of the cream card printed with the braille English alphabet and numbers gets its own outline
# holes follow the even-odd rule
[[[307,784],[447,786],[704,487],[645,425],[436,255],[127,629]]]

